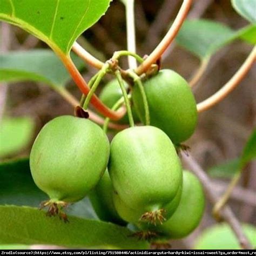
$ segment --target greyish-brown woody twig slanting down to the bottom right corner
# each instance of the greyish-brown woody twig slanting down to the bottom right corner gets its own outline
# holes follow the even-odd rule
[[[193,159],[192,156],[186,156],[185,153],[181,153],[184,163],[188,166],[188,168],[196,174],[196,176],[201,181],[204,186],[204,190],[206,193],[206,197],[211,201],[214,205],[218,201],[218,195],[215,193],[215,188],[213,186],[212,181],[208,178],[207,174],[201,168],[201,166],[197,163],[196,160]],[[250,250],[252,249],[252,245],[250,241],[248,241],[246,235],[242,231],[241,224],[238,219],[235,217],[233,211],[230,207],[225,206],[221,211],[221,217],[226,221],[228,225],[232,228],[234,234],[236,235],[241,248]]]

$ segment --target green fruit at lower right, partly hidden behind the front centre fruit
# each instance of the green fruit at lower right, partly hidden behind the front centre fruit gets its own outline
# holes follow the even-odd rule
[[[203,187],[194,174],[183,172],[180,203],[172,217],[154,229],[167,239],[179,239],[190,234],[200,223],[205,208]]]

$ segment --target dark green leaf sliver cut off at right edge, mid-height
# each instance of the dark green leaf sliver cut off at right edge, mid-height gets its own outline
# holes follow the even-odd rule
[[[244,147],[239,164],[240,169],[253,159],[256,159],[256,129],[254,129]]]

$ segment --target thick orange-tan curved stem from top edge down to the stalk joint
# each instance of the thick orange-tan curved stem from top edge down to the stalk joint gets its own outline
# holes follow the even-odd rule
[[[178,15],[176,16],[176,19],[174,20],[171,28],[166,33],[163,40],[158,44],[156,49],[151,52],[150,56],[146,58],[145,62],[139,65],[138,68],[135,70],[138,75],[142,75],[142,73],[149,69],[150,66],[154,64],[161,57],[161,55],[163,55],[164,51],[168,48],[168,46],[171,44],[171,42],[179,32],[179,29],[181,28],[181,25],[183,24],[187,16],[188,10],[190,9],[191,3],[192,0],[183,1]]]

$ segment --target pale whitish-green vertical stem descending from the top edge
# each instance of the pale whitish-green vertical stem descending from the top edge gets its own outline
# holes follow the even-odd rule
[[[125,2],[125,14],[126,14],[126,38],[127,38],[127,50],[136,53],[136,32],[134,21],[134,0]],[[137,68],[136,59],[129,56],[128,63],[130,69]]]

